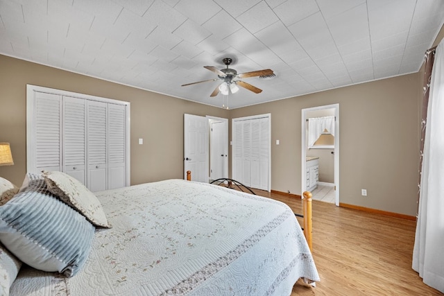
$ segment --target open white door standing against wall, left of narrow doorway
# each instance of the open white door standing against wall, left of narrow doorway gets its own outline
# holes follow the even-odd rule
[[[191,180],[208,182],[208,119],[184,115],[184,179],[187,171],[191,171]]]

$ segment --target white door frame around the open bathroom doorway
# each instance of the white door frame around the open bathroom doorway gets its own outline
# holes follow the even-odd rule
[[[332,105],[323,105],[318,107],[310,107],[302,109],[302,116],[301,116],[301,129],[302,129],[302,136],[301,136],[301,153],[300,153],[300,162],[301,162],[301,196],[302,193],[305,191],[305,164],[306,164],[306,157],[307,157],[307,132],[305,130],[305,124],[307,121],[307,112],[310,111],[316,111],[316,110],[323,110],[323,109],[334,109],[334,186],[336,186],[336,190],[334,191],[334,200],[336,206],[339,206],[339,103],[332,104]]]

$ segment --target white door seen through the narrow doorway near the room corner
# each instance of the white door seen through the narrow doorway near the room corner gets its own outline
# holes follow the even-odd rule
[[[227,134],[226,121],[211,121],[211,157],[210,157],[210,178],[217,180],[219,178],[228,177],[228,172],[225,169],[228,154],[226,149]]]

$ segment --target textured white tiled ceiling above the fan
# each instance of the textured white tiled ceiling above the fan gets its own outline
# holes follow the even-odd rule
[[[230,108],[418,71],[443,26],[443,0],[0,1],[0,53]],[[210,98],[203,66],[263,89]]]

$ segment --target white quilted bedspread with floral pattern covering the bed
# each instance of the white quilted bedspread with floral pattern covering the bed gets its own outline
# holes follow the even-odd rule
[[[11,295],[290,295],[318,272],[286,204],[167,180],[96,194],[96,232],[78,275],[23,268]]]

